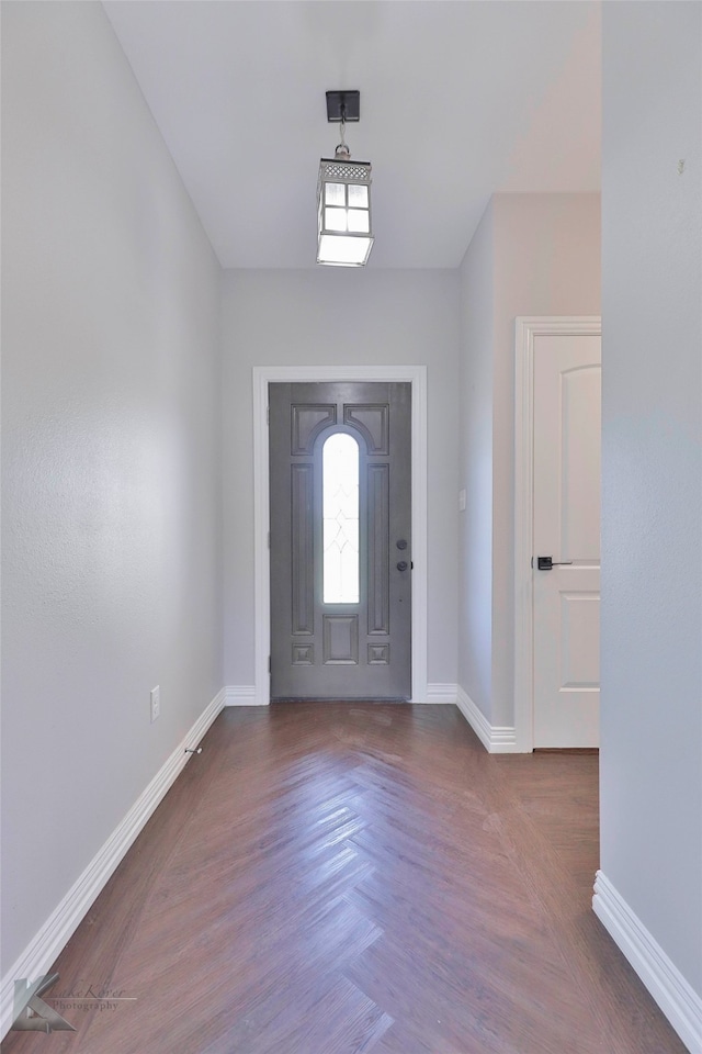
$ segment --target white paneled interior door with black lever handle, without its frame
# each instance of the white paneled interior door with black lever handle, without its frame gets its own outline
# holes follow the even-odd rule
[[[600,337],[537,334],[533,363],[534,747],[597,747]]]

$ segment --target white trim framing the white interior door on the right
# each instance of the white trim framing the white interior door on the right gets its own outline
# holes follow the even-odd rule
[[[600,336],[599,315],[520,315],[514,326],[514,733],[534,749],[534,338]]]

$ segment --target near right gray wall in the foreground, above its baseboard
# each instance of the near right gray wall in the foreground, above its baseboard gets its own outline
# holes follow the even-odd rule
[[[702,996],[702,7],[603,44],[601,868]]]

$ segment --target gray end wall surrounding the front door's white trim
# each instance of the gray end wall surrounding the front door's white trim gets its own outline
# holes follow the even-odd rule
[[[226,271],[225,677],[253,684],[253,366],[428,366],[430,682],[456,682],[455,271]]]

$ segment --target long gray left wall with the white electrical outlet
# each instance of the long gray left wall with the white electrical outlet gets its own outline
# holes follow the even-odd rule
[[[2,52],[4,973],[222,654],[218,266],[100,4]]]

